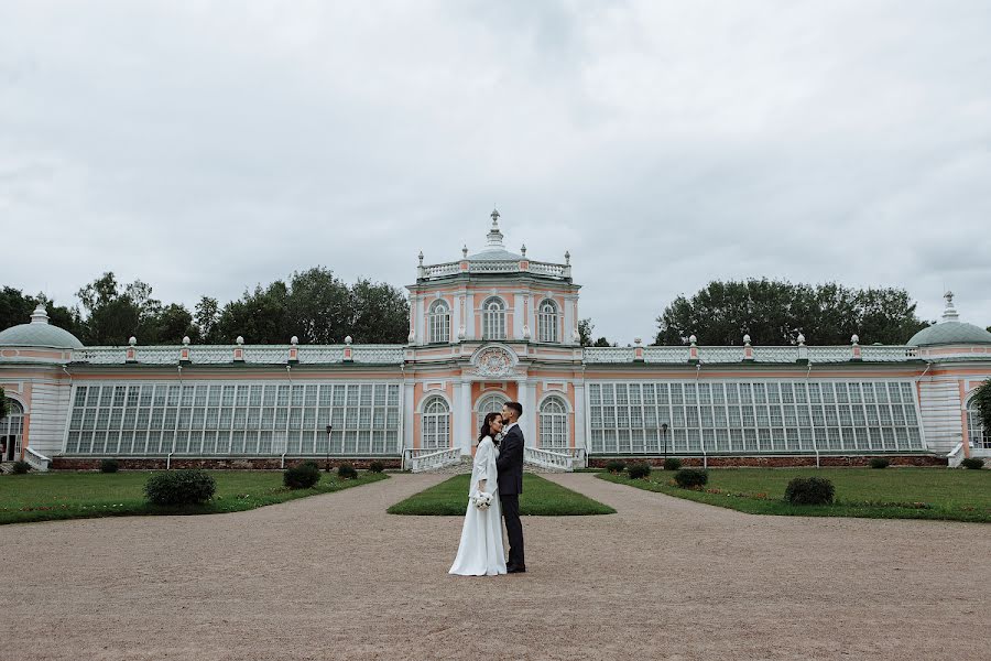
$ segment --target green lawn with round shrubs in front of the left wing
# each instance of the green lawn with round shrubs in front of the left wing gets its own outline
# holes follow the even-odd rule
[[[214,499],[205,505],[160,507],[144,499],[144,483],[152,475],[127,473],[30,473],[0,477],[0,524],[134,514],[216,514],[330,494],[385,479],[383,473],[359,472],[342,480],[336,473],[320,474],[312,489],[282,486],[281,470],[210,470],[217,480]]]

